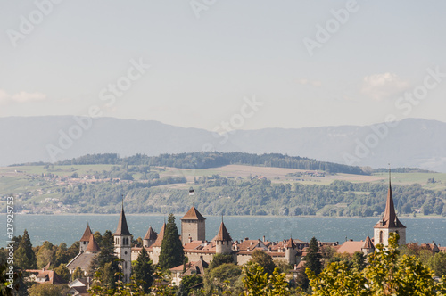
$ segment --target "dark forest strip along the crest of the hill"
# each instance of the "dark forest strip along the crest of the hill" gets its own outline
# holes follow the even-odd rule
[[[279,153],[252,154],[244,152],[191,152],[179,154],[161,154],[147,156],[136,154],[120,158],[116,153],[87,154],[72,160],[62,160],[57,165],[114,164],[134,166],[159,166],[179,169],[210,169],[228,164],[245,164],[286,169],[324,170],[328,173],[346,173],[368,175],[359,167],[347,166],[334,162],[318,161],[305,157],[289,156]]]

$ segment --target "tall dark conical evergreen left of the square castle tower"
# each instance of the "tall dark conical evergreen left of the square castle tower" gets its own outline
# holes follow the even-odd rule
[[[175,224],[175,217],[169,214],[168,223],[164,231],[164,237],[161,243],[161,252],[159,266],[166,270],[172,267],[178,267],[185,260],[185,251],[179,240],[178,228]]]

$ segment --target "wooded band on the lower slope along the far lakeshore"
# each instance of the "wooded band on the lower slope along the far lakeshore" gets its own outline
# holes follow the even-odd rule
[[[268,179],[199,177],[195,205],[205,215],[322,215],[373,217],[384,212],[388,185],[335,181],[331,185],[274,184]],[[183,213],[190,207],[187,190],[141,182],[82,184],[57,188],[60,201],[84,213],[117,213],[126,196],[128,213]],[[446,216],[446,192],[421,185],[394,185],[400,214],[421,212]]]

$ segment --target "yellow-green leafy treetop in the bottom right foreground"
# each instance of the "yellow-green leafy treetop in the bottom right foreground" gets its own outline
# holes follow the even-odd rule
[[[347,267],[345,262],[331,263],[319,275],[309,268],[313,295],[425,295],[446,292],[446,277],[442,283],[434,281],[434,273],[415,256],[399,256],[398,234],[390,234],[389,246],[376,244],[376,251],[368,255],[368,267],[362,271]]]

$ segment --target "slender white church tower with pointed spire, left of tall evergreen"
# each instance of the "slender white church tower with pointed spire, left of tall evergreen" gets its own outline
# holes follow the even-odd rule
[[[123,281],[128,283],[131,274],[131,243],[132,234],[128,231],[126,214],[124,213],[124,204],[122,204],[122,210],[120,212],[120,221],[118,222],[118,228],[113,234],[114,236],[114,252],[119,259],[124,261],[120,263],[122,273],[124,274]]]

